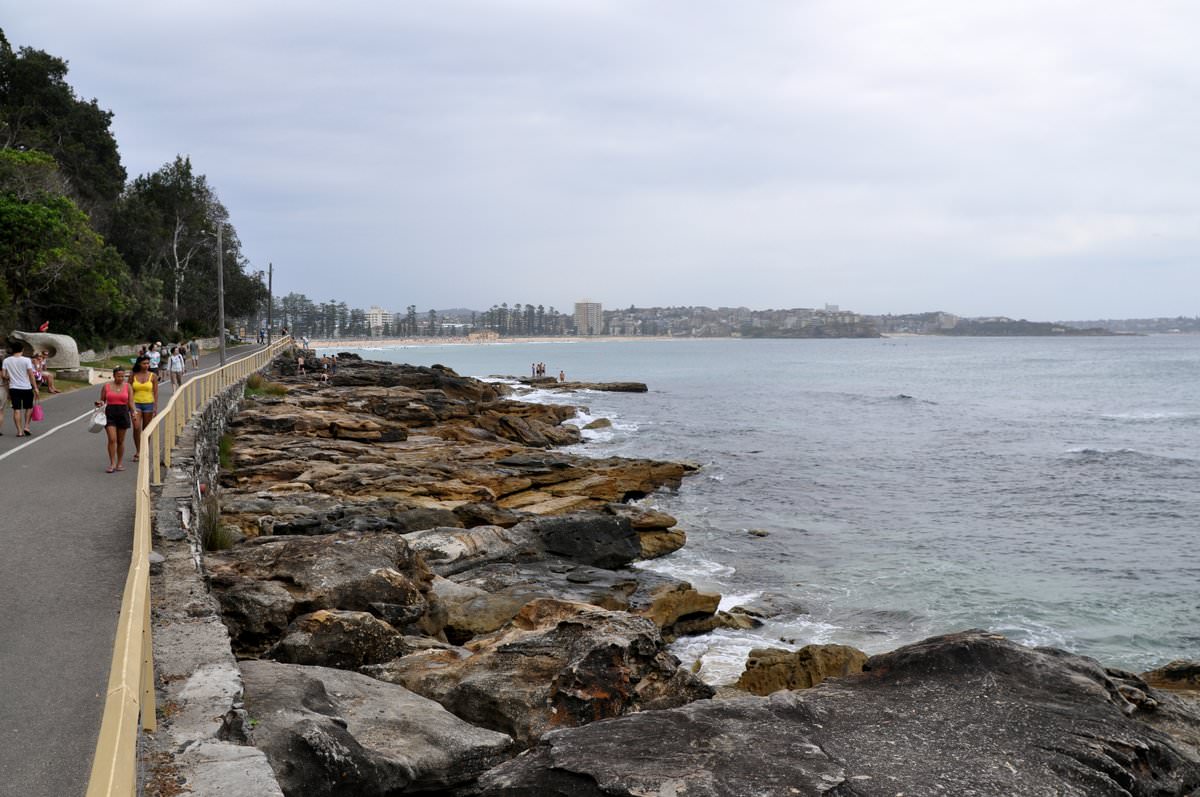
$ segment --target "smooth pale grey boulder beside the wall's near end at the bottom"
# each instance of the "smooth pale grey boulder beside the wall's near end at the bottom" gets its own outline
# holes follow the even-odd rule
[[[250,742],[287,797],[391,797],[472,781],[512,741],[355,672],[242,661]]]

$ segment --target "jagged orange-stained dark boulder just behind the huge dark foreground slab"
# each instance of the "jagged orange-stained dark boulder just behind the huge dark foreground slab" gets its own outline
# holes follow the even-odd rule
[[[648,619],[583,604],[534,600],[466,653],[418,653],[364,671],[522,745],[554,727],[713,695]]]

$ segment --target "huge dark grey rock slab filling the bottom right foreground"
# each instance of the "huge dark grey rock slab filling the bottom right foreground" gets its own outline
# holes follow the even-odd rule
[[[1200,749],[1151,723],[1168,714],[1195,729],[1200,714],[1164,697],[1091,659],[966,631],[814,689],[547,733],[486,773],[478,793],[1192,795]]]

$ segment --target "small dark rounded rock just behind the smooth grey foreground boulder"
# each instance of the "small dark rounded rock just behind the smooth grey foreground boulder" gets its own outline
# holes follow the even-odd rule
[[[292,621],[266,658],[353,670],[406,652],[401,633],[374,615],[323,609]]]

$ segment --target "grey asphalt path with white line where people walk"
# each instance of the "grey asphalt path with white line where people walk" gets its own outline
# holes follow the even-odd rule
[[[229,359],[251,348],[238,348]],[[202,359],[211,366],[215,355]],[[188,374],[191,376],[191,374]],[[88,431],[100,385],[47,396],[46,420],[0,427],[0,796],[83,795],[133,541],[136,463],[104,473]],[[170,389],[160,389],[160,403]],[[131,432],[132,433],[132,432]]]

